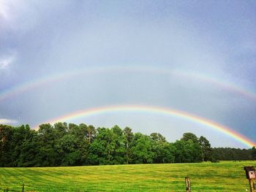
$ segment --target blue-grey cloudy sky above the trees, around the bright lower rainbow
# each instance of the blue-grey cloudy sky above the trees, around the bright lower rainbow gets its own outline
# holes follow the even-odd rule
[[[0,123],[39,124],[81,110],[186,112],[256,143],[255,1],[0,0]],[[115,125],[169,142],[238,139],[161,112],[100,112],[67,123]]]

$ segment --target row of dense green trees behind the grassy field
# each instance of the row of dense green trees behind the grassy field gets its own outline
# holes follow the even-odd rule
[[[81,123],[0,125],[0,166],[83,166],[106,164],[167,164],[256,159],[256,149],[212,148],[206,137],[185,133],[167,142],[118,126],[94,128]]]

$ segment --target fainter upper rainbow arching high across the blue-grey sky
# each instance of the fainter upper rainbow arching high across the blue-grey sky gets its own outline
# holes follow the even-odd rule
[[[12,96],[18,95],[19,93],[23,93],[24,91],[33,90],[35,88],[39,88],[43,85],[48,85],[52,82],[58,82],[60,80],[66,80],[70,77],[76,77],[78,75],[84,74],[97,74],[97,73],[110,73],[110,72],[141,72],[141,73],[154,73],[154,74],[165,74],[175,77],[187,78],[192,80],[198,80],[200,82],[208,82],[213,85],[216,85],[219,88],[223,88],[227,91],[231,91],[233,93],[237,93],[238,95],[245,96],[248,99],[253,99],[256,101],[256,93],[255,91],[250,90],[249,88],[244,88],[239,86],[238,84],[227,82],[225,80],[219,80],[217,77],[210,77],[209,75],[205,75],[199,72],[185,71],[181,69],[167,70],[167,69],[159,69],[155,67],[147,66],[146,68],[143,66],[99,66],[99,67],[91,67],[86,69],[79,69],[77,71],[64,72],[60,74],[51,74],[48,77],[43,77],[38,80],[31,80],[29,82],[23,82],[18,85],[14,85],[6,90],[0,92],[0,101],[4,99],[8,99]]]

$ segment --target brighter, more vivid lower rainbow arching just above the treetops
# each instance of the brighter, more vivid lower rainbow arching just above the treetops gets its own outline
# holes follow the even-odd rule
[[[85,118],[91,115],[99,115],[107,112],[149,112],[149,113],[157,113],[161,115],[170,115],[175,118],[189,120],[192,123],[197,123],[203,126],[207,126],[208,128],[217,130],[222,134],[226,134],[227,136],[232,137],[233,139],[236,139],[238,142],[241,142],[248,147],[256,146],[255,142],[252,142],[250,139],[244,137],[241,134],[238,134],[238,132],[233,131],[231,128],[227,128],[226,126],[222,126],[219,123],[215,123],[206,118],[201,118],[199,116],[192,115],[187,112],[172,110],[164,107],[154,107],[154,106],[144,106],[144,105],[113,105],[113,106],[105,106],[105,107],[94,107],[86,110],[71,112],[59,118],[46,120],[45,122],[50,124],[53,124],[56,122],[67,122],[67,121],[75,120],[78,118]],[[35,126],[34,128],[37,129],[38,127],[39,126]]]

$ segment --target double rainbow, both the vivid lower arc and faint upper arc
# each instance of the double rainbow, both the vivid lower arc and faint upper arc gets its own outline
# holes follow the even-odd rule
[[[200,74],[198,72],[187,72],[183,70],[167,70],[167,69],[159,69],[154,67],[118,67],[118,66],[100,66],[100,67],[93,67],[89,69],[80,69],[79,71],[72,71],[66,72],[61,74],[54,74],[52,76],[44,77],[42,79],[32,80],[30,82],[25,82],[23,84],[19,84],[16,86],[12,86],[9,89],[0,92],[0,101],[4,99],[9,99],[11,96],[15,96],[16,94],[22,93],[24,91],[33,90],[35,88],[39,88],[43,85],[48,85],[51,82],[57,82],[60,80],[66,80],[70,77],[76,77],[77,75],[84,75],[84,74],[98,74],[98,73],[110,73],[110,72],[142,72],[142,73],[153,73],[153,74],[166,74],[175,77],[187,78],[192,80],[198,80],[200,82],[208,82],[213,85],[217,85],[217,87],[222,88],[227,91],[231,91],[238,95],[245,96],[247,99],[252,99],[256,101],[256,93],[255,91],[243,88],[241,86],[235,85],[233,83],[227,82],[225,80],[219,80],[218,78],[206,76],[204,74]],[[213,128],[222,132],[223,134],[227,134],[230,137],[238,140],[239,142],[243,143],[248,147],[255,146],[255,142],[252,142],[248,138],[238,134],[236,131],[233,131],[226,126],[222,126],[218,123],[215,123],[211,120],[207,120],[205,118],[197,117],[196,115],[191,115],[187,112],[182,112],[178,110],[171,110],[163,107],[151,107],[151,106],[141,106],[141,105],[121,105],[121,106],[108,106],[108,107],[96,107],[87,110],[80,110],[77,112],[72,112],[68,115],[64,115],[62,117],[48,120],[47,123],[55,123],[59,121],[69,121],[74,120],[76,118],[82,118],[90,115],[97,115],[106,112],[151,112],[151,113],[158,113],[162,115],[170,115],[176,118],[182,118],[184,120],[190,120],[193,123],[199,123],[203,126],[207,126],[209,128]]]

